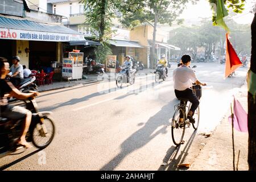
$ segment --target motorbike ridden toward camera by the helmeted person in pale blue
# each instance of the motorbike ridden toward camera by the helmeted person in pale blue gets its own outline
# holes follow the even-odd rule
[[[115,81],[115,84],[117,85],[117,87],[120,88],[122,87],[122,84],[127,84],[127,83],[129,83],[130,85],[133,85],[135,82],[136,69],[132,69],[131,72],[129,67],[121,67],[121,69],[122,70],[118,73]]]

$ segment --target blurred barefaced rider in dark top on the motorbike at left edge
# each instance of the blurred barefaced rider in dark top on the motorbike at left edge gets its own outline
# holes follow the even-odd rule
[[[24,119],[22,133],[18,140],[18,144],[20,146],[30,148],[32,146],[27,143],[26,134],[31,123],[32,113],[30,110],[27,110],[24,107],[8,105],[7,97],[15,97],[19,100],[24,100],[30,97],[38,96],[39,93],[20,92],[10,81],[6,80],[6,75],[9,73],[9,71],[9,63],[7,62],[7,59],[0,57],[0,116],[11,119],[13,121]]]

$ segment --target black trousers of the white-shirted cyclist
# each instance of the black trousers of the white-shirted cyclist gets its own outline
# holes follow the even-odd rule
[[[189,102],[192,103],[192,106],[191,106],[191,111],[193,112],[193,114],[195,113],[195,110],[197,109],[197,107],[199,106],[199,100],[198,98],[196,97],[196,94],[193,93],[193,90],[190,89],[190,88],[187,88],[183,91],[179,91],[179,90],[174,90],[175,92],[175,96],[179,99],[179,98],[187,98],[189,100]],[[181,103],[183,101],[180,101],[180,104],[183,104]]]

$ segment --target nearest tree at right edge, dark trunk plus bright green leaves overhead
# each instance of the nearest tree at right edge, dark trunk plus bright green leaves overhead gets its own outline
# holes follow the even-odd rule
[[[218,0],[220,1],[220,0]],[[217,0],[210,0],[217,5]],[[242,13],[245,0],[224,0],[225,6],[233,9],[235,13]],[[216,24],[216,14],[213,14],[213,23]],[[256,170],[256,14],[251,23],[251,60],[250,77],[248,79],[248,164],[249,170]]]

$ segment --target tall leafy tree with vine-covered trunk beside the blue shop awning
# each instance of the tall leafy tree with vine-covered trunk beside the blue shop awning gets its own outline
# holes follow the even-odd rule
[[[109,39],[112,36],[112,19],[115,18],[117,9],[120,5],[119,0],[84,0],[86,13],[85,22],[89,24],[96,34],[96,40],[101,46],[96,47],[96,58],[103,63],[107,55],[112,51],[109,45]]]

